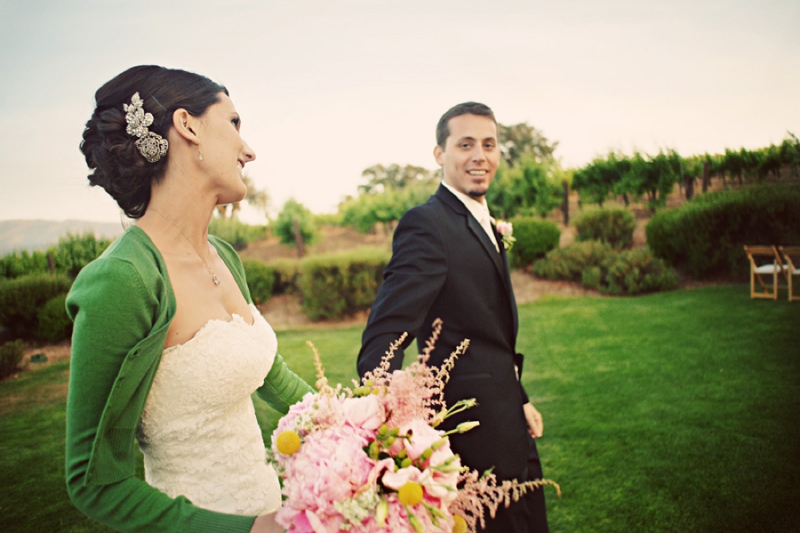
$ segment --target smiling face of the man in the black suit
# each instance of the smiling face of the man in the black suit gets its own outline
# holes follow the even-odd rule
[[[468,114],[451,118],[447,125],[450,135],[445,147],[437,145],[433,150],[444,181],[480,200],[489,190],[500,163],[497,124],[489,117]]]

